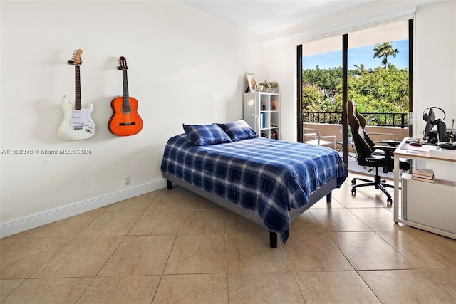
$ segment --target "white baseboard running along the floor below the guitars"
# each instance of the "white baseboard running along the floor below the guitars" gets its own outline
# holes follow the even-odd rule
[[[66,219],[70,216],[82,214],[87,211],[91,211],[103,206],[108,206],[118,201],[130,199],[132,197],[146,194],[148,192],[152,192],[165,187],[166,179],[158,179],[154,182],[140,184],[138,186],[130,187],[118,192],[93,197],[91,199],[78,201],[73,204],[41,211],[37,214],[31,214],[29,216],[24,216],[19,219],[8,221],[6,223],[1,223],[0,238],[11,236],[13,234],[19,234],[19,232],[26,231],[28,229],[50,224],[54,221],[60,221],[61,219]]]

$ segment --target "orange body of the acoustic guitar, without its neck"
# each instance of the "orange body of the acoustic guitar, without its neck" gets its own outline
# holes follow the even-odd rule
[[[123,96],[114,98],[111,101],[113,116],[111,116],[108,128],[111,133],[118,136],[135,135],[142,129],[142,119],[138,114],[138,100],[133,97],[128,98],[125,103]]]

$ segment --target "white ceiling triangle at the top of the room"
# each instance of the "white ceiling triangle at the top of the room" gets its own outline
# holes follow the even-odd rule
[[[264,34],[375,0],[181,0],[229,23]],[[378,1],[378,0],[377,0]]]

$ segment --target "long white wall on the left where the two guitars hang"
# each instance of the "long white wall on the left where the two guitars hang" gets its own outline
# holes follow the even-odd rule
[[[93,103],[97,130],[73,142],[61,140],[58,127],[62,96],[74,102],[68,59],[76,48],[83,50],[83,107]],[[131,137],[108,130],[110,101],[123,93],[120,56],[144,121]],[[183,132],[183,122],[241,118],[244,73],[261,75],[262,68],[259,37],[179,1],[1,1],[1,150],[91,150],[1,154],[2,236],[14,232],[11,223],[65,206],[90,209],[90,201],[138,194],[128,189],[163,187],[167,139]]]

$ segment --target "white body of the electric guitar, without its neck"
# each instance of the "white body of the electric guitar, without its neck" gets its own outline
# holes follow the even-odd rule
[[[66,96],[62,98],[63,120],[58,128],[58,135],[64,140],[86,140],[95,134],[95,123],[90,115],[93,105],[76,110],[68,103]]]

